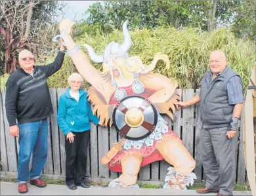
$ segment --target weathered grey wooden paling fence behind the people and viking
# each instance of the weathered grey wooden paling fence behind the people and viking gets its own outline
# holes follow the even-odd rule
[[[190,100],[194,97],[196,90],[178,90],[179,94],[182,94],[182,100]],[[66,89],[58,88],[50,89],[51,99],[53,103],[54,114],[48,119],[48,157],[42,174],[49,176],[65,176],[65,139],[62,131],[58,127],[56,121],[58,100]],[[38,103],[40,104],[40,103]],[[199,104],[189,108],[180,109],[175,112],[174,121],[171,121],[168,117],[163,118],[169,123],[174,132],[182,138],[183,144],[188,149],[190,154],[196,161],[196,168],[194,173],[197,176],[196,182],[202,182],[205,180],[203,174],[202,162],[200,159],[200,128],[201,121],[199,119],[200,110]],[[15,173],[17,172],[18,163],[18,138],[14,138],[9,134],[9,124],[7,122],[5,114],[5,92],[0,94],[0,128],[1,128],[1,162],[2,172]],[[247,184],[245,161],[244,161],[244,145],[240,141],[243,141],[243,123],[240,123],[238,128],[238,134],[236,136],[236,179],[237,184]],[[110,147],[114,143],[120,140],[119,134],[114,128],[104,128],[95,126],[91,123],[90,142],[88,148],[87,159],[87,176],[93,179],[112,179],[117,178],[120,173],[112,172],[108,170],[107,165],[102,165],[100,159],[105,155]],[[165,175],[167,174],[167,168],[169,163],[166,161],[156,161],[142,167],[139,172],[139,180],[142,182],[163,182]]]

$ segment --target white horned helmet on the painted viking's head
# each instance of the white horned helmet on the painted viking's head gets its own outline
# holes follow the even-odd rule
[[[131,36],[129,35],[129,31],[127,29],[128,20],[126,20],[123,23],[123,36],[125,37],[125,40],[121,45],[118,43],[112,41],[110,44],[108,44],[103,52],[103,54],[96,54],[95,50],[89,45],[83,45],[91,58],[93,62],[95,63],[101,63],[106,60],[106,58],[112,56],[112,55],[119,55],[124,56],[126,58],[129,57],[128,50],[131,49]]]

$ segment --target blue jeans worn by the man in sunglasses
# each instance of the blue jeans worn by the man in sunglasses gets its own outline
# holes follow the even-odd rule
[[[20,134],[18,144],[18,183],[26,183],[28,179],[39,178],[40,172],[47,159],[47,119],[32,123],[18,124]],[[29,171],[30,157],[32,155],[32,168]]]

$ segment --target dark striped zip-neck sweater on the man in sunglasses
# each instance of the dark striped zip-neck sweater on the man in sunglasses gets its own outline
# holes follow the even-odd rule
[[[43,120],[53,114],[47,77],[61,68],[64,52],[58,52],[54,62],[34,66],[33,76],[22,68],[16,69],[7,80],[5,109],[9,126]]]

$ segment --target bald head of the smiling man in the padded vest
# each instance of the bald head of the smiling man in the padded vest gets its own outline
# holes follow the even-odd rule
[[[226,68],[226,56],[223,50],[214,50],[209,59],[210,68],[214,75],[221,73]]]

